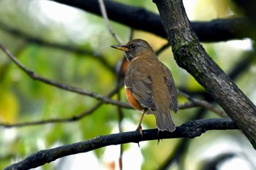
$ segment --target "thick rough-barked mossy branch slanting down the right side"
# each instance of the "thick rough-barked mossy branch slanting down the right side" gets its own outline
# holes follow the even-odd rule
[[[156,0],[179,66],[203,85],[256,148],[256,107],[208,56],[189,24],[181,0]]]

